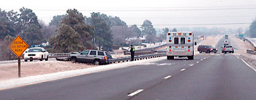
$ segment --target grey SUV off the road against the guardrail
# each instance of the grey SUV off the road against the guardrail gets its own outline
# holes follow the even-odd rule
[[[94,64],[108,64],[112,56],[107,51],[85,50],[70,54],[72,62],[85,62]]]

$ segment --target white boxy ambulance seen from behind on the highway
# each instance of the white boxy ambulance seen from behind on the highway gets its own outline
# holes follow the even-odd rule
[[[194,59],[194,34],[192,32],[167,33],[167,59],[174,59],[174,57]]]

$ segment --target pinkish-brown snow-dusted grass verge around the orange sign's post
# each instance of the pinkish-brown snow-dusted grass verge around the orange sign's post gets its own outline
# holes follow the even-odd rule
[[[96,67],[92,64],[79,64],[60,61],[42,62],[21,62],[21,76],[44,75],[53,72],[63,72],[67,70],[78,70],[89,67]],[[0,64],[0,80],[18,77],[18,63]]]

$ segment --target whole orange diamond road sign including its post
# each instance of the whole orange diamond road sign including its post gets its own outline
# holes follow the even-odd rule
[[[23,41],[20,36],[17,36],[15,40],[12,41],[9,48],[18,57],[18,77],[20,78],[20,56],[27,48],[29,48],[29,45],[25,41]]]

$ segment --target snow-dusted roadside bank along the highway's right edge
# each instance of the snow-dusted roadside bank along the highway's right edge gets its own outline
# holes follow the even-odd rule
[[[246,49],[254,49],[254,47],[248,41],[242,41],[235,36],[230,36],[230,42],[233,48],[235,49],[234,55],[244,59],[247,63],[256,68],[256,54],[246,53]]]

